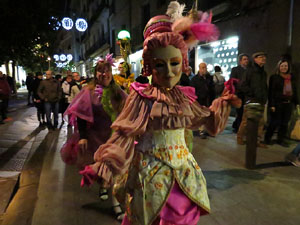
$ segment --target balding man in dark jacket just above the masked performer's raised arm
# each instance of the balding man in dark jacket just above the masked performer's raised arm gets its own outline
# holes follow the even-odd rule
[[[197,101],[200,105],[209,107],[215,99],[214,82],[212,76],[207,72],[206,63],[199,64],[199,72],[191,80],[191,86],[195,88]],[[194,133],[197,135],[197,133]],[[207,133],[200,128],[200,137],[206,138]]]

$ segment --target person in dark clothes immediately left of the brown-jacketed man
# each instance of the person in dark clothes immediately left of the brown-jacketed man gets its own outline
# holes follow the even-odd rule
[[[38,95],[38,88],[42,80],[43,80],[43,74],[41,72],[36,72],[35,79],[32,85],[32,91],[33,91],[33,101],[37,109],[37,118],[38,121],[40,122],[40,127],[46,125],[44,101],[41,100],[40,96]]]

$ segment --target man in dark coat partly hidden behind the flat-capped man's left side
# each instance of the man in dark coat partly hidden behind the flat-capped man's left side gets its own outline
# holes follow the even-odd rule
[[[241,84],[242,81],[245,80],[246,70],[248,66],[249,66],[249,56],[245,53],[242,53],[239,55],[239,65],[237,67],[233,67],[230,74],[230,78],[235,78],[239,80],[237,85],[235,86],[235,90],[236,90],[236,95],[242,100],[242,106],[241,108],[236,109],[235,120],[232,124],[234,133],[238,132],[243,118],[245,96],[241,89]]]

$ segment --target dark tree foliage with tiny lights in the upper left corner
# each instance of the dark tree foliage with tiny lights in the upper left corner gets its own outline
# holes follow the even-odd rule
[[[44,70],[56,40],[55,18],[62,17],[64,3],[61,0],[1,0],[0,64],[12,60],[27,70]]]

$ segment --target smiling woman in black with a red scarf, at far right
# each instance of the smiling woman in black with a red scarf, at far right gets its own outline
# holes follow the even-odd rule
[[[287,60],[280,60],[276,73],[269,81],[269,102],[271,120],[265,134],[265,143],[271,144],[272,136],[277,127],[277,143],[289,147],[285,141],[288,123],[292,115],[293,104],[297,105],[296,79],[291,74],[291,66]]]

